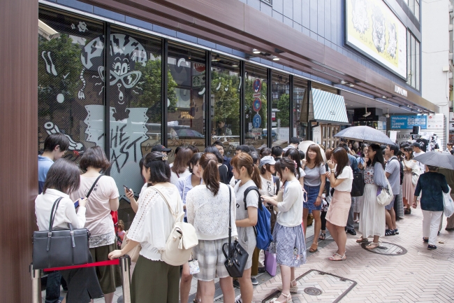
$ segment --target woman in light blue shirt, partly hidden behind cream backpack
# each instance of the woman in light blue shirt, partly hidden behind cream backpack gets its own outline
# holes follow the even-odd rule
[[[189,160],[188,167],[191,174],[186,178],[180,178],[178,180],[178,191],[180,192],[180,197],[183,201],[183,209],[186,212],[186,197],[190,190],[195,188],[197,185],[203,183],[202,179],[202,170],[200,169],[200,157],[202,153],[195,153]],[[186,214],[184,215],[184,220],[187,222]],[[184,263],[182,270],[182,279],[180,281],[180,301],[188,302],[189,292],[191,291],[191,281],[192,275],[189,272],[189,263]],[[196,300],[200,299],[199,288],[197,288]],[[199,301],[196,301],[199,302]]]

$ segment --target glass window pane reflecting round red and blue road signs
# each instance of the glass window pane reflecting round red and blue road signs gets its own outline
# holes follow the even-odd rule
[[[268,134],[268,96],[267,70],[259,66],[246,65],[246,89],[244,90],[244,109],[246,111],[247,145],[259,148],[267,145]]]

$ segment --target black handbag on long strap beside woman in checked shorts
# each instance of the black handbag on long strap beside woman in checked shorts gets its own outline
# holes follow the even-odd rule
[[[226,266],[228,274],[232,278],[241,278],[249,254],[242,248],[236,239],[232,243],[232,211],[230,210],[232,206],[232,192],[230,186],[228,186],[228,194],[230,196],[228,202],[228,243],[224,243],[222,246],[222,253],[224,253],[224,256],[227,259],[226,262],[224,262],[224,265]],[[226,253],[226,246],[228,248],[228,253]]]

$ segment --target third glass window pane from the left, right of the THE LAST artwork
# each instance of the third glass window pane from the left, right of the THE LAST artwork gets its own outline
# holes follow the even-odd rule
[[[205,149],[205,52],[168,43],[168,148]]]

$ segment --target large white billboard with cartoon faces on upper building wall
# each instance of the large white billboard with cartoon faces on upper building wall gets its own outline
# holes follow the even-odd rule
[[[407,29],[383,0],[345,0],[345,43],[407,79]]]

